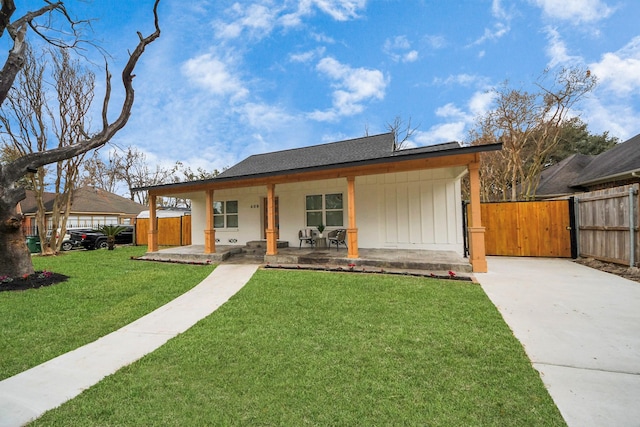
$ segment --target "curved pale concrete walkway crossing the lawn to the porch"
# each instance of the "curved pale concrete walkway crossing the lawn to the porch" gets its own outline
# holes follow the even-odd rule
[[[220,265],[202,283],[137,321],[0,381],[0,427],[21,426],[73,399],[213,313],[257,265]]]

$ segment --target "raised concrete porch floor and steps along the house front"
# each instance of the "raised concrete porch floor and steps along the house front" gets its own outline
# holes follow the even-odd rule
[[[369,272],[381,270],[446,276],[449,271],[469,276],[472,266],[468,258],[454,251],[409,249],[359,249],[359,258],[349,258],[341,248],[293,248],[281,245],[278,253],[267,255],[265,240],[248,242],[246,246],[217,246],[215,253],[206,253],[204,245],[177,246],[146,253],[141,259],[165,262],[194,263],[256,263],[282,267],[355,268]]]

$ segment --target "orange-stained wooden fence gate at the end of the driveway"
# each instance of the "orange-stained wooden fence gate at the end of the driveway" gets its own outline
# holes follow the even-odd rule
[[[571,257],[568,200],[480,206],[487,255]]]

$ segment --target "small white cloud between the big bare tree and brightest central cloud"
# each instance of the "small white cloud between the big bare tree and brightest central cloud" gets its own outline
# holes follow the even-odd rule
[[[213,94],[229,95],[234,99],[247,96],[249,91],[228,68],[225,62],[207,53],[186,61],[182,73]]]

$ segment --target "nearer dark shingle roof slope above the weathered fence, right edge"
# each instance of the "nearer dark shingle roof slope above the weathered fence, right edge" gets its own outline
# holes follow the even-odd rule
[[[639,169],[640,134],[596,156],[572,184],[584,185]]]

